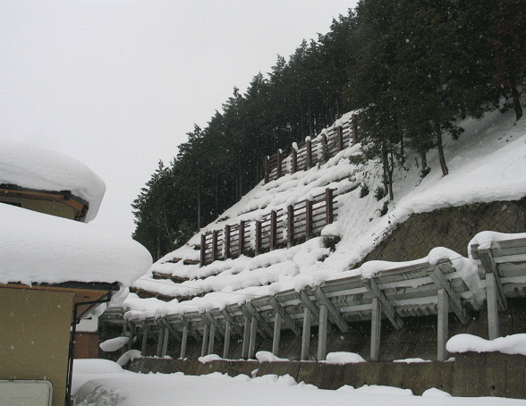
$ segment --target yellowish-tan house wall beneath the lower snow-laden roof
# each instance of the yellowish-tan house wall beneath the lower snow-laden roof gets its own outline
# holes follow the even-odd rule
[[[47,379],[64,406],[73,292],[0,288],[0,379]]]

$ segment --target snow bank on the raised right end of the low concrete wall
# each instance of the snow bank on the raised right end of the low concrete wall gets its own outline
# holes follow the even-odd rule
[[[485,340],[471,334],[457,334],[449,339],[445,348],[449,352],[503,352],[526,355],[526,334],[513,334]]]

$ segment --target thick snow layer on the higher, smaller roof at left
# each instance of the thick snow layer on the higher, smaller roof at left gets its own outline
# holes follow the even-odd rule
[[[80,161],[13,140],[0,140],[0,183],[35,190],[70,190],[89,203],[86,223],[97,216],[106,192],[102,179]]]

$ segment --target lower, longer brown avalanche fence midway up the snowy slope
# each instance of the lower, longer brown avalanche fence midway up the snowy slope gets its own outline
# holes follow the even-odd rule
[[[241,221],[226,225],[225,229],[203,233],[200,266],[217,259],[259,255],[278,247],[292,247],[316,237],[337,216],[334,200],[334,190],[326,189],[285,209],[272,210],[260,220]]]

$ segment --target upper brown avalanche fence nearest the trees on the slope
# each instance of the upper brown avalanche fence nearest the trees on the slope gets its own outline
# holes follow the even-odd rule
[[[351,120],[335,125],[323,131],[314,140],[310,137],[291,148],[290,155],[278,150],[273,156],[265,156],[265,183],[275,181],[286,173],[307,170],[314,165],[325,164],[344,148],[352,147],[358,142],[354,114]]]

